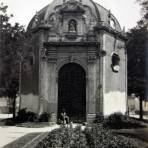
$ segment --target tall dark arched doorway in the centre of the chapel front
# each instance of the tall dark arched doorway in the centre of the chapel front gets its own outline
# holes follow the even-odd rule
[[[86,73],[76,63],[68,63],[58,73],[58,116],[65,109],[70,120],[85,121]]]

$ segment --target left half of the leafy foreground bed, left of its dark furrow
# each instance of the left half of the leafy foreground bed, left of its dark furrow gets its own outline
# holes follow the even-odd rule
[[[87,141],[81,127],[67,128],[61,127],[48,134],[48,136],[41,141],[37,148],[87,148]]]

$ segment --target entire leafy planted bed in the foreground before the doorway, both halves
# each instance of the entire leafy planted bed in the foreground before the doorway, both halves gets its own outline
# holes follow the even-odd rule
[[[110,130],[96,124],[86,127],[83,131],[81,127],[75,129],[61,127],[48,134],[40,141],[36,148],[122,148],[134,147],[138,144],[135,140],[124,136],[112,134]]]

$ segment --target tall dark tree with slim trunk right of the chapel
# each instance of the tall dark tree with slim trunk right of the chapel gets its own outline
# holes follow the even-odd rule
[[[138,0],[142,18],[127,33],[128,93],[140,97],[140,118],[143,118],[142,100],[148,99],[148,1]]]

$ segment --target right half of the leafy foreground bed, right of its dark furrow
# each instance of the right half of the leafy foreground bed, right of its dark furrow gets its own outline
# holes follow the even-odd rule
[[[90,148],[138,148],[135,140],[113,135],[110,130],[104,129],[103,126],[93,125],[92,128],[86,128],[85,134]]]

